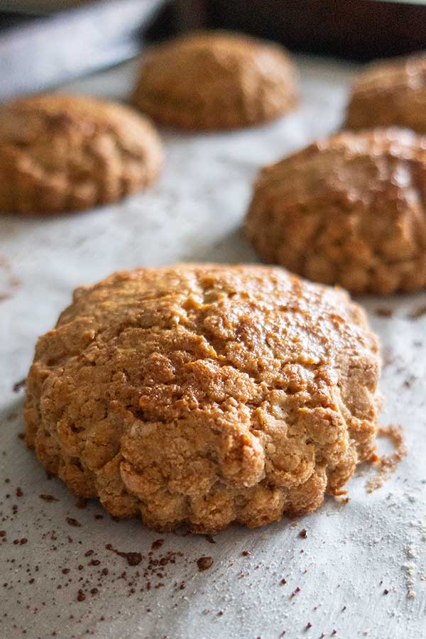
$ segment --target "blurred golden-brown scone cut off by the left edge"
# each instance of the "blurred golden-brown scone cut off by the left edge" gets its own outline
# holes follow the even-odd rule
[[[0,107],[0,211],[54,214],[116,202],[153,182],[160,138],[141,114],[45,94]]]

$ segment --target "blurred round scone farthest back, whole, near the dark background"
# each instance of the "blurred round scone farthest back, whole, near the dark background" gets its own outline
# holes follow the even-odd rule
[[[223,31],[154,47],[132,99],[160,124],[204,130],[273,120],[297,100],[295,67],[283,48]]]

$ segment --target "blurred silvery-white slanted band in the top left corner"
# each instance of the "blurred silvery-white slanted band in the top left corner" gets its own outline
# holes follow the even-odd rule
[[[143,33],[165,4],[107,0],[17,23],[6,16],[0,31],[0,100],[129,60],[141,50]]]

